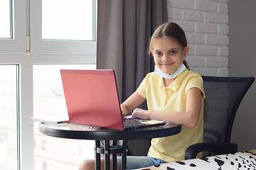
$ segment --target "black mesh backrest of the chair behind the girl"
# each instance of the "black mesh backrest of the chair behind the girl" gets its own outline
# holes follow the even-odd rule
[[[235,113],[255,78],[202,77],[208,105],[204,123],[204,140],[205,142],[230,142]]]

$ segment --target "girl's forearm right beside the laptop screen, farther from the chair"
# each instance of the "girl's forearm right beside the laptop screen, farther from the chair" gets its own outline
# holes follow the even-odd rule
[[[134,110],[134,108],[139,106],[145,100],[146,98],[143,98],[137,91],[135,91],[131,96],[129,96],[129,98],[127,98],[126,101],[124,101],[124,103],[120,105],[122,116],[124,117],[125,115],[128,115],[132,110]]]

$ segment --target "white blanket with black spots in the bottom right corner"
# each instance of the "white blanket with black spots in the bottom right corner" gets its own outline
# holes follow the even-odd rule
[[[235,154],[222,154],[200,159],[189,159],[181,162],[171,162],[142,168],[140,170],[225,170],[225,169],[247,169],[256,170],[256,149],[252,151],[237,152]]]

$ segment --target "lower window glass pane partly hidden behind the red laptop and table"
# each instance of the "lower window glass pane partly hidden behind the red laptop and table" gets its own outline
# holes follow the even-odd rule
[[[95,64],[35,64],[33,66],[33,113],[68,115],[60,69],[96,69]],[[34,123],[35,169],[78,169],[84,159],[93,159],[95,142],[42,135]]]

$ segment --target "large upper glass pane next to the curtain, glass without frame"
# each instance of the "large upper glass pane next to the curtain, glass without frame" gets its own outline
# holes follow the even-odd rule
[[[42,38],[93,40],[93,0],[42,0]]]

